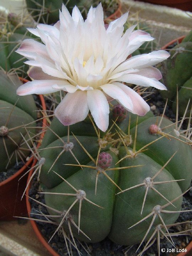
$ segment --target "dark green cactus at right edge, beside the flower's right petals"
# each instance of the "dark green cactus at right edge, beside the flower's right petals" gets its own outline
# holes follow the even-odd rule
[[[170,49],[171,56],[161,66],[163,83],[167,91],[162,91],[161,96],[168,98],[176,113],[176,94],[178,89],[179,116],[183,116],[188,101],[192,98],[192,31],[181,43]],[[187,111],[190,116],[190,110]]]

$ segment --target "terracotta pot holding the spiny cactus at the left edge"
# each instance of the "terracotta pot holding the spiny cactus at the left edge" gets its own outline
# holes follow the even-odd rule
[[[26,79],[21,79],[26,82]],[[42,95],[39,95],[43,110],[46,110],[45,101]],[[43,127],[46,126],[46,119],[43,119]],[[41,139],[43,138],[41,134]],[[37,146],[40,146],[40,142]],[[26,202],[21,200],[23,191],[26,187],[27,175],[23,176],[27,168],[31,165],[33,158],[30,158],[26,164],[14,175],[0,182],[0,220],[15,220],[13,216],[27,216]],[[19,181],[19,179],[22,179]]]

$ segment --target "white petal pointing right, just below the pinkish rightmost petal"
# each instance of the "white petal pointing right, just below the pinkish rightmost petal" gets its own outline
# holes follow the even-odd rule
[[[135,84],[145,87],[152,86],[159,90],[167,90],[165,85],[163,85],[155,78],[147,78],[143,75],[128,74],[121,76],[121,78],[118,78],[118,80],[122,82],[127,82],[129,84]]]

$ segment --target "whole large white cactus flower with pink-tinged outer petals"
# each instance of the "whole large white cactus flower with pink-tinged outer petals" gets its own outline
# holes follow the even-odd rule
[[[91,7],[84,21],[75,6],[72,15],[62,6],[60,20],[54,25],[37,25],[28,29],[43,43],[26,39],[16,51],[33,67],[27,82],[17,90],[18,95],[67,92],[55,109],[55,116],[64,125],[84,120],[89,113],[99,129],[108,128],[108,101],[116,99],[128,111],[143,116],[150,110],[143,98],[122,82],[140,86],[166,87],[158,80],[161,73],[152,65],[162,62],[169,53],[158,50],[149,54],[127,57],[150,34],[128,28],[123,34],[128,13],[112,21],[108,28],[103,22],[101,4]]]

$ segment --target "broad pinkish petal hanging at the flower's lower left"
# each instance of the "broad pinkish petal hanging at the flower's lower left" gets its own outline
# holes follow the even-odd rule
[[[55,116],[64,125],[71,125],[83,121],[89,113],[87,93],[76,91],[65,95],[55,109]]]

